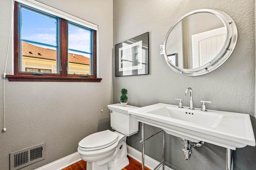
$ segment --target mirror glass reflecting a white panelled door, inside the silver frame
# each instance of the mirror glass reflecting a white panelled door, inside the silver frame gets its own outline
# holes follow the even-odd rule
[[[189,15],[170,31],[166,55],[174,66],[198,68],[218,55],[226,36],[224,23],[218,16],[207,12]]]

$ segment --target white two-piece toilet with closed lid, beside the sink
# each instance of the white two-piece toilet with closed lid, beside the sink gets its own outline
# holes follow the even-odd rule
[[[122,170],[129,164],[126,137],[138,133],[138,121],[128,114],[138,107],[108,105],[110,109],[110,130],[93,133],[78,143],[78,153],[86,161],[87,170]]]

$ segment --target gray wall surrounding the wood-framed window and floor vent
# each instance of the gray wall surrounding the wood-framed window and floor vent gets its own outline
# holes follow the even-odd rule
[[[38,0],[48,6],[99,26],[103,104],[99,82],[6,82],[6,129],[3,100],[0,102],[0,169],[9,169],[9,153],[46,143],[46,159],[32,170],[77,152],[78,142],[110,127],[108,104],[113,103],[112,0]],[[8,47],[12,0],[0,0],[0,94],[3,94],[4,63]],[[12,44],[12,41],[11,41]],[[12,73],[12,46],[7,74]],[[2,98],[2,97],[1,97]],[[101,106],[103,105],[103,113]]]

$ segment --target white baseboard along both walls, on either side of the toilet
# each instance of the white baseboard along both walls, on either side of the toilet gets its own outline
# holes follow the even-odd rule
[[[137,160],[138,162],[141,163],[141,152],[128,146],[127,145],[127,153],[130,157],[132,157],[133,159]],[[35,170],[62,170],[63,168],[66,168],[78,161],[82,160],[80,158],[80,155],[78,152],[75,152],[73,154],[70,154],[64,158],[61,158],[59,160],[56,160],[54,162],[51,162],[50,164],[44,165],[40,168],[37,168]],[[149,156],[145,155],[144,157],[144,162],[145,162],[145,166],[150,168],[151,170],[154,169],[160,162],[150,158]],[[164,168],[165,170],[173,170],[169,167]],[[162,170],[160,168],[160,170]]]

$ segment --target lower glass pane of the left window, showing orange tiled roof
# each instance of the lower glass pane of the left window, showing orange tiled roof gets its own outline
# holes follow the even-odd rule
[[[56,48],[22,42],[22,70],[56,73]]]

